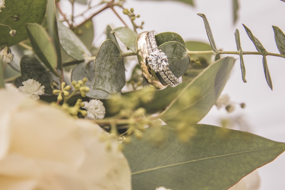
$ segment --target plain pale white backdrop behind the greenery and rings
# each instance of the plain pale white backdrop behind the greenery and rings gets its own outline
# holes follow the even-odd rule
[[[194,0],[195,7],[175,1],[134,1],[128,0],[125,7],[133,7],[144,21],[144,29],[138,32],[156,30],[177,32],[187,40],[208,42],[203,19],[197,13],[206,15],[217,48],[236,51],[235,29],[239,29],[241,46],[244,51],[256,51],[248,38],[242,23],[245,24],[263,44],[268,52],[279,53],[274,40],[272,25],[285,32],[285,3],[280,0],[239,0],[239,18],[233,24],[232,2],[229,0]],[[94,1],[95,2],[95,1]],[[79,5],[76,5],[79,7]],[[68,8],[68,7],[66,7]],[[128,18],[116,9],[124,20]],[[111,10],[106,10],[94,19],[95,40],[99,46],[104,38],[106,24],[112,28],[123,26]],[[130,22],[127,22],[131,27]],[[239,58],[237,58],[231,76],[222,94],[229,94],[232,101],[246,103],[245,109],[236,108],[231,114],[213,107],[201,121],[205,124],[220,126],[223,118],[240,118],[244,124],[240,130],[247,130],[271,140],[285,142],[285,59],[267,56],[268,67],[273,83],[273,91],[268,87],[262,67],[262,56],[245,55],[247,83],[243,83]],[[262,190],[285,189],[285,154],[274,162],[258,169]]]

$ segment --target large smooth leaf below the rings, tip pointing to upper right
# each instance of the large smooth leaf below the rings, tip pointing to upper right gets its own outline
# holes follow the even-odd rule
[[[170,126],[199,122],[220,96],[234,62],[232,57],[222,58],[208,66],[189,84],[173,88],[176,96],[171,97],[172,102],[160,114],[160,119]]]

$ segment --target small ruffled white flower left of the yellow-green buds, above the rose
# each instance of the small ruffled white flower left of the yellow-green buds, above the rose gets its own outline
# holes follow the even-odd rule
[[[34,79],[28,79],[22,82],[22,84],[24,86],[20,86],[18,90],[25,97],[32,97],[32,99],[38,100],[40,99],[39,95],[44,94],[44,86],[41,86],[41,83]]]

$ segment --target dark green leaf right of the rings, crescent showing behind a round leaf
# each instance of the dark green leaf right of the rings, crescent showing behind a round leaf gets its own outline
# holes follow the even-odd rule
[[[160,46],[161,44],[165,43],[165,42],[179,42],[180,44],[182,44],[184,47],[186,47],[186,44],[183,40],[183,38],[174,32],[162,32],[159,34],[155,35],[155,41],[156,44],[158,46]]]

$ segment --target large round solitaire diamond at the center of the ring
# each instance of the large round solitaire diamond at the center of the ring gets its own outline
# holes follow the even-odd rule
[[[162,71],[164,68],[169,66],[167,62],[167,56],[161,50],[154,50],[149,54],[148,57],[148,65],[152,68],[155,72]]]

